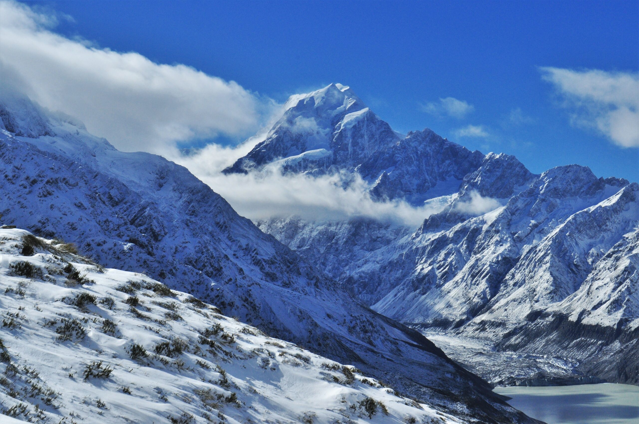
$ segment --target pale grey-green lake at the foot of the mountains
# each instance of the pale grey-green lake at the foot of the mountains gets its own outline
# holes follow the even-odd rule
[[[639,387],[584,384],[556,387],[498,387],[508,403],[548,424],[638,424]]]

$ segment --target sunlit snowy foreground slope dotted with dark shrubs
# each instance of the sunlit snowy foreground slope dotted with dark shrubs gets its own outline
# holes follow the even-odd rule
[[[0,421],[466,422],[63,248],[0,230]]]

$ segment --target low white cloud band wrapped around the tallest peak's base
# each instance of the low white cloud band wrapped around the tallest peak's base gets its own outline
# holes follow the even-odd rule
[[[282,175],[275,166],[263,172],[224,175],[220,170],[245,155],[265,135],[237,148],[210,145],[196,155],[176,156],[174,162],[187,167],[197,178],[226,199],[240,215],[258,220],[271,216],[297,215],[306,220],[344,220],[364,217],[381,222],[417,227],[445,204],[414,207],[404,201],[376,202],[369,195],[369,183],[351,175],[314,177]],[[345,181],[349,181],[346,185]]]

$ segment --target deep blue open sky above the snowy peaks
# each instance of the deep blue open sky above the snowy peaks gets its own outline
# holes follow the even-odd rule
[[[636,75],[637,1],[29,4],[70,15],[54,29],[68,38],[187,64],[277,102],[341,82],[400,132],[433,128],[533,172],[580,163],[639,181],[639,149],[575,119],[539,68]],[[468,107],[447,110],[449,97]]]

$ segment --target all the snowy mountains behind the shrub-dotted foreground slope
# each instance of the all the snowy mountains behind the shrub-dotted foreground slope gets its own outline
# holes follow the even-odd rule
[[[330,84],[291,96],[224,174],[364,181],[373,202],[407,205],[423,222],[251,222],[185,167],[118,151],[26,96],[4,94],[0,122],[2,223],[58,238],[40,239],[45,250],[75,243],[82,257],[58,254],[88,273],[104,266],[157,280],[304,357],[353,365],[441,420],[537,422],[491,384],[639,384],[637,183],[580,165],[534,174],[514,156],[470,151],[429,129],[397,133],[350,87]],[[4,275],[15,275],[11,255],[61,260],[17,254],[12,234]],[[43,271],[33,287],[57,284],[50,278]],[[3,331],[8,346],[21,337]],[[291,414],[305,411],[291,408],[282,414],[301,420]]]

